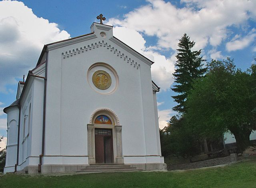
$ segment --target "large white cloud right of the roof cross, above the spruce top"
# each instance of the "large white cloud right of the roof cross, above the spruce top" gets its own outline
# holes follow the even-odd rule
[[[107,24],[115,26],[114,35],[155,63],[152,65],[152,80],[161,88],[170,89],[176,62],[175,54],[166,57],[157,50],[175,50],[178,40],[186,32],[196,41],[193,50],[208,45],[211,58],[224,58],[216,47],[232,32],[230,26],[244,27],[249,18],[256,16],[256,1],[240,0],[184,0],[183,8],[176,8],[164,0],[147,0],[148,4],[124,15],[124,19],[110,18]],[[244,32],[247,32],[246,30]],[[146,47],[143,36],[156,36],[156,46]],[[244,41],[242,41],[244,42]]]

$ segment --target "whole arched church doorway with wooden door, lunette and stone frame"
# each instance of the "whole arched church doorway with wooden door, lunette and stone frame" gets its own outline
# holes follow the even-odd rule
[[[96,110],[90,118],[90,124],[87,124],[88,163],[123,164],[121,131],[122,126],[112,110]]]

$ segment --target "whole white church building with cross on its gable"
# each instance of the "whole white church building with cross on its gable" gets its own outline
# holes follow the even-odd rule
[[[101,15],[102,17],[102,15]],[[165,170],[152,61],[93,23],[46,44],[7,114],[4,173],[78,172],[95,164]]]

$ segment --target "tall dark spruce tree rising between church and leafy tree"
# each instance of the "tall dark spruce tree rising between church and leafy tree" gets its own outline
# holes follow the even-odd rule
[[[194,41],[190,41],[190,37],[185,33],[180,42],[178,43],[178,54],[176,56],[176,69],[173,73],[174,82],[177,83],[173,86],[172,90],[179,93],[177,96],[172,96],[174,101],[178,103],[174,106],[172,110],[184,113],[186,109],[184,108],[184,102],[188,96],[188,91],[192,88],[192,82],[194,79],[203,76],[206,72],[206,68],[202,68],[203,62],[205,61],[199,51],[191,51],[195,45]]]

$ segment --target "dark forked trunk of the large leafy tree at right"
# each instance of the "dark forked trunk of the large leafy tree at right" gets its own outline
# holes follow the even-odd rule
[[[252,131],[240,129],[231,132],[234,134],[236,139],[237,152],[242,153],[248,146],[250,146],[250,134]]]

